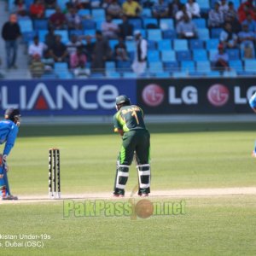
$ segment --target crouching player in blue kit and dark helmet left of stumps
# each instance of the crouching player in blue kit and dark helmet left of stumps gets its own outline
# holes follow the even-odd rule
[[[15,140],[19,132],[20,111],[9,108],[5,111],[4,120],[0,121],[0,144],[4,144],[3,154],[0,155],[0,196],[3,200],[17,200],[11,195],[7,177],[7,158],[11,149],[15,145]]]

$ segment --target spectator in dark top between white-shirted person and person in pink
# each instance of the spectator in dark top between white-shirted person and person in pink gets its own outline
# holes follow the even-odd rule
[[[61,36],[55,36],[55,44],[50,49],[50,55],[55,62],[67,62],[67,47],[61,43]]]

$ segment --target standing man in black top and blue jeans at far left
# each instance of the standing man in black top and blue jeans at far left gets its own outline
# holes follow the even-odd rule
[[[16,57],[18,50],[18,38],[20,38],[20,25],[17,22],[17,15],[9,15],[9,21],[3,24],[2,38],[5,41],[6,66],[17,68]]]

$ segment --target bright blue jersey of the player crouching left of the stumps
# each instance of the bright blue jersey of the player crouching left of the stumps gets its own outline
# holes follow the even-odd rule
[[[11,120],[0,121],[0,144],[5,143],[3,154],[9,154],[15,145],[19,127]]]

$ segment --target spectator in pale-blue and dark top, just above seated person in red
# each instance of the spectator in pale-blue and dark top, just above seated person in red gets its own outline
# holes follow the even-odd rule
[[[237,48],[238,37],[236,33],[232,32],[232,26],[230,23],[225,23],[223,31],[220,32],[219,41],[224,48]]]

